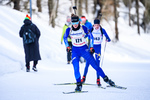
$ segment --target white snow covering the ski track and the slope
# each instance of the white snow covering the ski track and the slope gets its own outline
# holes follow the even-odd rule
[[[102,68],[116,84],[127,87],[127,90],[115,88],[104,90],[96,86],[83,86],[83,90],[87,90],[88,93],[64,95],[63,91],[73,91],[75,85],[53,84],[75,82],[75,78],[73,66],[66,64],[66,48],[60,42],[62,28],[51,28],[45,19],[46,14],[39,14],[42,17],[33,15],[33,23],[41,31],[39,42],[42,60],[37,66],[38,72],[27,73],[24,66],[22,39],[19,37],[25,15],[9,7],[0,6],[0,100],[148,100],[150,98],[149,34],[138,35],[135,26],[129,27],[127,21],[119,17],[120,40],[118,43],[107,43]],[[63,22],[65,17],[58,19]],[[102,26],[113,39],[114,22],[108,23],[104,20]],[[102,53],[104,54],[103,48]],[[85,63],[80,63],[81,75],[84,66]],[[86,82],[96,83],[96,73],[92,67],[89,67]],[[102,79],[101,83],[104,87],[107,85]]]

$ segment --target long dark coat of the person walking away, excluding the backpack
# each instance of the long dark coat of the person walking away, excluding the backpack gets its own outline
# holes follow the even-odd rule
[[[36,34],[36,39],[35,39],[34,43],[23,44],[26,63],[29,61],[41,60],[40,51],[39,51],[40,31],[37,28],[37,26],[35,24],[33,24],[29,19],[25,19],[24,25],[20,29],[19,35],[20,35],[20,37],[23,37],[24,31],[26,29],[28,29],[29,27],[31,27],[30,29],[32,30],[32,32]]]

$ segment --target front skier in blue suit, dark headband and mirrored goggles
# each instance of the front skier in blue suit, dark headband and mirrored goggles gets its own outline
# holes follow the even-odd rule
[[[92,34],[88,34],[88,30],[85,26],[81,26],[79,24],[79,17],[77,15],[71,15],[71,28],[67,28],[66,33],[64,35],[64,42],[66,45],[67,50],[70,50],[67,37],[70,35],[72,41],[72,64],[74,67],[74,75],[77,81],[77,87],[75,91],[82,90],[82,82],[81,82],[81,75],[79,72],[79,59],[82,56],[91,66],[98,72],[98,74],[104,79],[106,83],[111,86],[114,86],[115,83],[111,81],[103,72],[103,70],[98,66],[94,57],[91,53],[94,53],[93,49],[93,36]],[[86,37],[90,37],[90,51],[86,44]]]

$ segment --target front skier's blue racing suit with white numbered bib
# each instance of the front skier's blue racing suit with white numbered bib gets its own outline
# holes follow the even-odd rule
[[[74,67],[74,74],[77,82],[81,82],[81,75],[79,72],[79,59],[82,56],[91,66],[97,71],[97,73],[104,78],[106,75],[103,70],[96,63],[93,55],[89,52],[86,37],[90,38],[90,47],[93,47],[94,39],[91,33],[88,34],[88,29],[85,26],[79,25],[78,30],[67,28],[64,35],[64,43],[68,47],[67,37],[70,35],[72,40],[72,64]]]

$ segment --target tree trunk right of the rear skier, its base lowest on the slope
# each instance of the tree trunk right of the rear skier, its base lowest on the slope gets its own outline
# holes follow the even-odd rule
[[[119,33],[118,33],[118,16],[117,16],[117,2],[114,0],[114,17],[115,17],[115,39],[118,41],[119,40]]]

